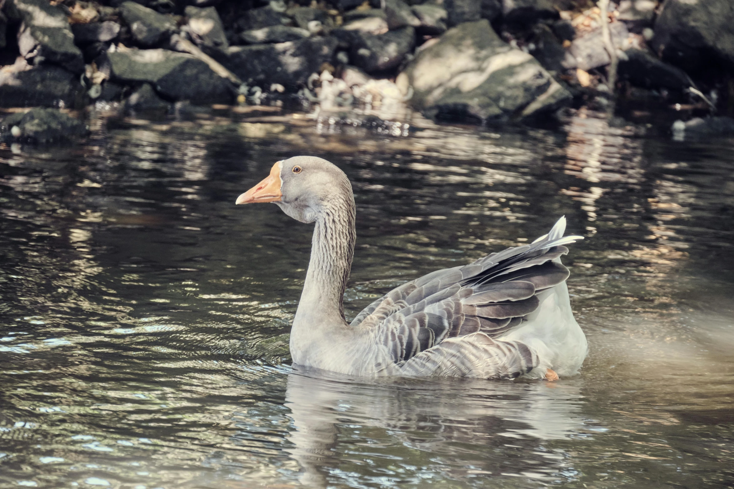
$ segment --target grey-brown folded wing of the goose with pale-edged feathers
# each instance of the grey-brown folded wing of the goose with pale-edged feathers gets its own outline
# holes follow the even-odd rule
[[[352,326],[371,330],[407,375],[522,375],[537,356],[520,342],[497,338],[537,309],[537,293],[568,278],[560,260],[568,252],[564,245],[583,238],[563,237],[565,224],[559,219],[531,244],[402,284],[360,312]]]

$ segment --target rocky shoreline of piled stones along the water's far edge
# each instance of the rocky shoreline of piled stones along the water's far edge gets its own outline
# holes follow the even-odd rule
[[[621,0],[608,3],[606,19],[587,0],[0,5],[3,108],[117,104],[167,113],[176,103],[297,103],[335,113],[408,107],[496,125],[619,102],[672,108],[674,133],[734,127],[730,0]],[[22,124],[13,114],[0,123],[1,139],[54,140],[49,128],[65,127],[68,116],[52,112],[34,111]],[[56,139],[80,133],[68,125],[75,129]]]

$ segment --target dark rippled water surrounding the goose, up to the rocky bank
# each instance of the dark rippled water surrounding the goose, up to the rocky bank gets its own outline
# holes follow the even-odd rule
[[[0,488],[734,485],[733,139],[584,109],[556,130],[331,122],[93,114],[84,146],[0,147]],[[566,215],[581,375],[291,370],[311,228],[233,202],[298,154],[354,184],[349,315]]]

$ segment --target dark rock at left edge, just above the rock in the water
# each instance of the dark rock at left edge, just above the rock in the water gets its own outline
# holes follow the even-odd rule
[[[8,70],[6,67],[0,71],[1,107],[62,106],[74,109],[84,105],[84,93],[79,75],[62,67],[38,66],[25,71]]]

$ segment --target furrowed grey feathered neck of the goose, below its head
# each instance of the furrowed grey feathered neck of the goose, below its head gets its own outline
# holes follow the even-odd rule
[[[338,192],[321,207],[313,229],[311,258],[308,264],[301,303],[312,319],[344,318],[344,290],[355,254],[355,199],[351,188]]]

